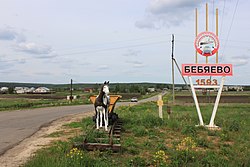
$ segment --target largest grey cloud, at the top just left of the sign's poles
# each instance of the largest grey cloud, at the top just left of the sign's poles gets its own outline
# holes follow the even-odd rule
[[[192,16],[201,0],[151,0],[146,16],[135,22],[138,28],[159,29],[182,24]]]

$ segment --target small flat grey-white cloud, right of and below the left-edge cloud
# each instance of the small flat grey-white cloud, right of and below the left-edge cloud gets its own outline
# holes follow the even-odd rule
[[[16,45],[16,50],[30,54],[49,54],[52,48],[47,45],[36,44],[33,42],[21,42]]]

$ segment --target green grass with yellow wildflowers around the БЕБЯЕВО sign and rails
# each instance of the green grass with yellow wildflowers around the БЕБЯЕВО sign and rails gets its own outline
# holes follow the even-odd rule
[[[38,151],[25,167],[80,166],[250,166],[250,104],[219,107],[215,123],[221,130],[196,127],[195,106],[172,106],[167,119],[158,118],[155,103],[122,106],[116,109],[123,121],[118,153],[73,149],[94,126],[91,118],[68,127],[81,127],[83,134],[56,142]],[[204,122],[209,123],[213,106],[201,106]],[[102,134],[99,134],[102,135]]]

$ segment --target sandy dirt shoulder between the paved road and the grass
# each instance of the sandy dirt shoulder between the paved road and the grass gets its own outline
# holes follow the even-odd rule
[[[24,139],[17,146],[0,156],[1,167],[18,167],[25,162],[39,149],[48,146],[52,141],[62,138],[48,137],[49,134],[62,131],[63,125],[70,122],[81,121],[84,117],[92,116],[93,112],[84,112],[76,115],[69,115],[53,121],[49,126],[41,128],[31,137]],[[64,136],[65,138],[65,136]]]

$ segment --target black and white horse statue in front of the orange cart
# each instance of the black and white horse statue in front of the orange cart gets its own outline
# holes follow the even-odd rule
[[[108,131],[108,107],[110,103],[110,97],[109,97],[109,87],[108,87],[109,81],[104,82],[104,84],[101,86],[101,90],[99,95],[96,97],[94,106],[95,106],[95,113],[96,113],[96,129],[99,129],[102,127],[103,118],[104,118],[104,126],[105,131]]]

